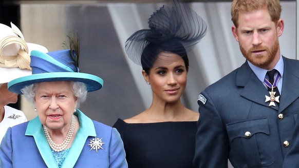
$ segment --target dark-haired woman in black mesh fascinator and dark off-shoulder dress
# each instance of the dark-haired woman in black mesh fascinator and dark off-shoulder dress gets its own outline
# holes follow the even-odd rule
[[[207,25],[186,4],[175,1],[149,18],[149,28],[130,36],[125,49],[142,66],[151,86],[152,105],[140,114],[118,119],[129,167],[192,167],[199,113],[186,108],[181,96],[186,88],[191,50],[205,35]]]

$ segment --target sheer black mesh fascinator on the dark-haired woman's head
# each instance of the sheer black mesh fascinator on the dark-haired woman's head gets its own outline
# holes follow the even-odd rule
[[[144,68],[152,68],[161,52],[186,56],[207,32],[204,20],[177,0],[154,12],[148,25],[149,29],[133,33],[125,42],[128,57]]]

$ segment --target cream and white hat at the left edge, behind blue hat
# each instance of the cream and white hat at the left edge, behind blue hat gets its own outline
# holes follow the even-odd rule
[[[31,74],[30,55],[32,50],[48,52],[41,45],[26,43],[20,29],[0,24],[0,84]]]

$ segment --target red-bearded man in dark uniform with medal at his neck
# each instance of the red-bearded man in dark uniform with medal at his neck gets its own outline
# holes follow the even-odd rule
[[[234,0],[232,33],[245,63],[198,97],[194,167],[283,167],[299,109],[299,61],[281,53],[278,0]],[[297,121],[298,122],[298,121]]]

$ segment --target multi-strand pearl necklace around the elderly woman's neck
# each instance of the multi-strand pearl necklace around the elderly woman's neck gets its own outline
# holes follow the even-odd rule
[[[70,139],[72,137],[72,134],[73,134],[73,131],[74,131],[74,125],[75,125],[75,117],[74,117],[74,115],[72,115],[72,117],[71,117],[71,124],[70,124],[70,128],[68,130],[67,136],[65,137],[64,141],[62,143],[60,143],[60,144],[56,144],[52,140],[52,138],[51,138],[51,136],[50,136],[50,134],[49,134],[46,126],[43,125],[47,141],[48,141],[48,143],[49,143],[49,145],[50,145],[50,147],[51,147],[51,149],[53,151],[55,151],[55,152],[61,152],[61,151],[63,151],[66,148],[66,146],[68,145],[68,143],[70,142]]]

